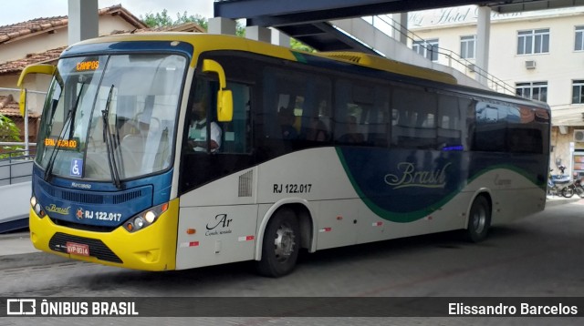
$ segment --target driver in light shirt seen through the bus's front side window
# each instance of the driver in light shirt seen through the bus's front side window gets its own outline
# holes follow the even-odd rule
[[[207,122],[207,103],[204,98],[195,102],[192,107],[192,121],[189,127],[189,145],[195,152],[207,150],[207,145],[212,153],[221,147],[221,127],[216,122]],[[207,128],[211,126],[210,141],[207,141]]]

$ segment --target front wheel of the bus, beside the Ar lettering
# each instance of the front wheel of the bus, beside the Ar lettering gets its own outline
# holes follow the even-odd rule
[[[262,243],[262,260],[257,262],[261,275],[284,276],[296,267],[300,246],[300,227],[292,209],[280,209],[267,223]]]

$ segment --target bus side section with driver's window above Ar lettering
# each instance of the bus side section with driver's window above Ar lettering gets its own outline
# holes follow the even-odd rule
[[[183,133],[177,269],[253,260],[255,252],[251,87],[227,83],[233,93],[233,119],[219,122],[213,109],[218,84],[198,78]],[[202,102],[204,112],[193,107]],[[197,123],[203,127],[194,126]]]

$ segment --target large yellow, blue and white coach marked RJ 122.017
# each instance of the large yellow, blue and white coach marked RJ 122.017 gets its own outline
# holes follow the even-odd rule
[[[301,249],[479,241],[545,206],[547,105],[441,72],[193,34],[99,37],[35,72],[31,239],[71,259],[277,277]]]

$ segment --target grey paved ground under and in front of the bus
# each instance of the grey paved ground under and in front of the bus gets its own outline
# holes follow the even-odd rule
[[[317,296],[418,297],[581,296],[582,262],[572,244],[579,238],[579,199],[550,199],[554,214],[539,215],[512,228],[496,229],[491,242],[479,246],[449,239],[393,241],[361,250],[331,250],[307,258],[286,280],[257,278],[238,269],[245,265],[169,273],[114,269],[36,251],[26,232],[0,236],[0,289],[4,295],[57,297],[132,296]],[[565,219],[563,217],[566,217]],[[557,223],[561,221],[561,223]],[[555,225],[558,229],[555,229]],[[402,245],[402,246],[401,246]],[[508,248],[513,247],[513,250]],[[543,250],[542,250],[543,248]],[[365,251],[362,251],[365,249]],[[334,253],[334,254],[331,254]],[[568,260],[566,257],[573,257]],[[62,262],[62,263],[59,263]],[[436,265],[436,263],[440,265]],[[46,266],[41,266],[46,265]],[[579,265],[580,266],[580,265]],[[558,272],[560,272],[558,274]],[[360,273],[360,280],[356,280]],[[579,276],[580,275],[580,276]],[[307,282],[307,278],[312,280]],[[503,279],[501,279],[503,278]],[[454,285],[457,284],[457,285]],[[571,285],[570,285],[571,284]],[[516,290],[521,289],[521,290]],[[571,290],[570,290],[571,289]],[[2,296],[2,294],[0,294]],[[2,302],[0,302],[2,303]],[[415,302],[414,302],[415,303]],[[2,306],[2,304],[0,304]],[[574,319],[547,318],[10,318],[0,325],[140,324],[140,325],[548,325],[577,324]]]

